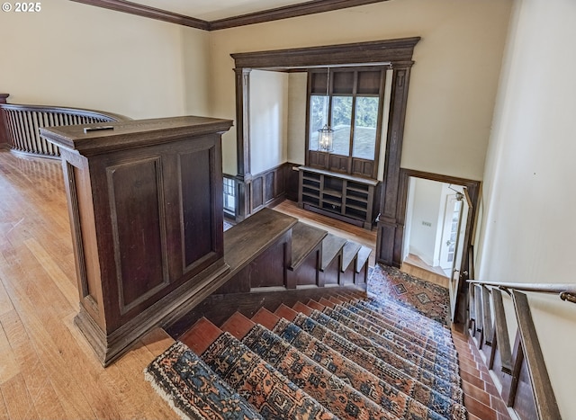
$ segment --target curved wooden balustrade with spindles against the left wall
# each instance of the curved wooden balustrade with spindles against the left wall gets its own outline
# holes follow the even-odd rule
[[[123,115],[63,106],[5,103],[8,94],[0,94],[0,142],[12,150],[58,158],[57,146],[40,136],[40,129],[61,125],[129,121]]]

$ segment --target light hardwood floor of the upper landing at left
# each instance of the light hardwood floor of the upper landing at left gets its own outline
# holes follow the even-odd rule
[[[60,162],[0,151],[0,419],[178,418],[143,369],[156,330],[104,369],[73,324],[76,270]]]

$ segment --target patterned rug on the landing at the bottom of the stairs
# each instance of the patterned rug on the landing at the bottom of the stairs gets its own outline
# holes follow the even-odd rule
[[[396,300],[445,326],[450,325],[448,290],[437,284],[376,264],[368,279],[368,293],[378,299]]]

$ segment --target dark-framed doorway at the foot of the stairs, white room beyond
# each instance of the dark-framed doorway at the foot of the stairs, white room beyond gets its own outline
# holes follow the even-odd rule
[[[419,261],[419,268],[443,278],[435,282],[450,291],[455,322],[471,275],[467,267],[479,190],[479,181],[401,169],[401,263]]]

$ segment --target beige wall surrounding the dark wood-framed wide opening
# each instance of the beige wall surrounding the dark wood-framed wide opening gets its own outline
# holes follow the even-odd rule
[[[212,114],[235,118],[230,53],[421,36],[402,165],[482,179],[512,0],[402,0],[211,33]],[[293,138],[295,139],[295,138]],[[236,171],[236,133],[224,136]]]

